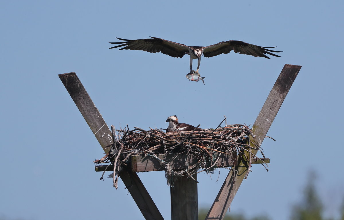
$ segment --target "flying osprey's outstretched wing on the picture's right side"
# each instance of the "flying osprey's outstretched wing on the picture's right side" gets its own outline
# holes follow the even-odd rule
[[[257,46],[257,45],[245,43],[243,41],[222,41],[217,44],[206,46],[203,50],[203,55],[204,57],[212,57],[212,56],[216,56],[222,53],[226,54],[233,50],[235,53],[247,54],[247,55],[252,55],[256,57],[257,56],[265,57],[268,59],[270,59],[270,57],[268,57],[265,54],[281,57],[279,55],[276,55],[270,52],[279,53],[282,51],[275,51],[275,50],[267,49],[267,48],[275,48],[275,47],[276,46],[272,46],[272,47]]]

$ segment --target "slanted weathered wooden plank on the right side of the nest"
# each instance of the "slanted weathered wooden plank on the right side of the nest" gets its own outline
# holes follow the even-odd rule
[[[252,127],[252,132],[256,135],[256,138],[252,137],[250,140],[257,146],[260,146],[263,142],[273,119],[275,119],[278,110],[280,109],[284,98],[287,96],[291,85],[293,84],[296,76],[298,75],[301,66],[297,65],[284,65],[282,72],[275,85],[266,99],[260,113]],[[254,144],[251,143],[253,147]],[[253,154],[257,153],[257,150],[251,150]],[[225,179],[215,201],[208,212],[206,220],[222,220],[232,202],[241,182],[244,180],[249,169],[249,153],[245,152],[245,156],[238,160],[238,166],[235,167],[235,171],[230,171]]]

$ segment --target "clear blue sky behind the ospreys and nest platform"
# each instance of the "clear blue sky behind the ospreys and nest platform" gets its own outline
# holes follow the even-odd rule
[[[142,219],[119,182],[99,181],[103,150],[58,74],[76,72],[108,126],[166,128],[168,116],[202,128],[253,124],[284,64],[302,65],[231,211],[287,220],[308,172],[335,216],[342,201],[343,1],[2,1],[0,217]],[[277,46],[281,58],[202,58],[205,85],[185,78],[189,57],[109,50],[116,37],[155,36],[190,46],[242,40]],[[196,63],[194,62],[194,68]],[[198,175],[210,207],[228,171]],[[165,219],[164,172],[140,173]],[[218,181],[216,181],[218,179]]]

